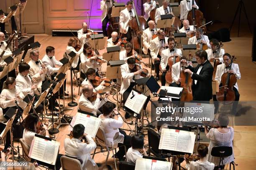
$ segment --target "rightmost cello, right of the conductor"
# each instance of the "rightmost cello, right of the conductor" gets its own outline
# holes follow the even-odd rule
[[[229,70],[231,70],[232,68],[232,63],[234,58],[235,56],[233,55],[230,62]],[[217,92],[216,94],[217,100],[218,101],[234,101],[235,92],[233,90],[233,87],[235,84],[236,84],[236,75],[228,72],[224,73],[221,76],[221,81],[220,81],[220,85],[222,86],[220,87],[219,92]]]

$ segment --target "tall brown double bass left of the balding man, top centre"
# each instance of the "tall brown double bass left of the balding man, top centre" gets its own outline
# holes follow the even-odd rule
[[[135,13],[135,17],[129,21],[129,27],[133,31],[132,34],[132,44],[134,50],[141,50],[141,35],[143,30],[146,28],[146,20],[143,16],[138,16],[136,12],[136,8],[134,5],[134,1],[131,1],[133,4],[133,10]]]

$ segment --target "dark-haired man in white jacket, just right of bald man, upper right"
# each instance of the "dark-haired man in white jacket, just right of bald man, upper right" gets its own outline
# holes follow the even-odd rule
[[[210,41],[207,35],[202,35],[203,34],[203,29],[202,28],[198,28],[196,30],[196,35],[189,38],[188,44],[198,44],[198,43],[202,43],[202,44],[206,44],[208,49],[211,48],[210,45]]]

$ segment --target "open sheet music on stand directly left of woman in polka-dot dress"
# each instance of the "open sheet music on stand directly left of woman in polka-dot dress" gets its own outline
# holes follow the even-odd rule
[[[162,129],[159,149],[193,153],[195,134],[184,130]]]

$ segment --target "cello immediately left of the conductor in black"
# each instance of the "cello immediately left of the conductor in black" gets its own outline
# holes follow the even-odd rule
[[[190,61],[191,57],[193,57],[191,55],[191,53],[189,52],[189,56],[187,58],[188,61]],[[180,65],[181,67],[181,65]],[[193,100],[193,95],[192,95],[192,78],[191,76],[187,73],[184,72],[184,70],[180,70],[180,87],[183,87],[182,90],[182,95],[180,97],[180,101],[191,101]]]

